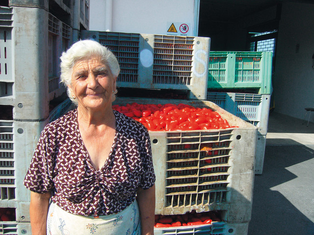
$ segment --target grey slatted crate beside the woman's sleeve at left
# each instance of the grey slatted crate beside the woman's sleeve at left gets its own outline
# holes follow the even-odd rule
[[[71,105],[59,104],[44,121],[0,120],[0,208],[16,208],[16,221],[29,221],[29,190],[23,180],[39,135],[49,121],[59,118]]]

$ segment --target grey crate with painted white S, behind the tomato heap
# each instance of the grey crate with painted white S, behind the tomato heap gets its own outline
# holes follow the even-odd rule
[[[82,31],[116,55],[121,72],[117,87],[189,91],[206,99],[209,38]]]

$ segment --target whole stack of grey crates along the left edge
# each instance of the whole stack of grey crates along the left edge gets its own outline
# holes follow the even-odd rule
[[[23,179],[38,137],[71,103],[60,98],[58,57],[72,44],[75,18],[70,1],[9,4],[0,6],[0,234],[22,235],[31,233]]]

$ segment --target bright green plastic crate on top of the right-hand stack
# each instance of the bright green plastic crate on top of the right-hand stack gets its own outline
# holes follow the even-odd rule
[[[210,51],[210,89],[257,88],[271,94],[272,52]]]

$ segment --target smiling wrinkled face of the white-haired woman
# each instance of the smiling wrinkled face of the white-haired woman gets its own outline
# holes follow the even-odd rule
[[[68,87],[78,100],[78,106],[97,110],[111,105],[116,77],[113,77],[100,57],[90,57],[73,66],[71,85]]]

